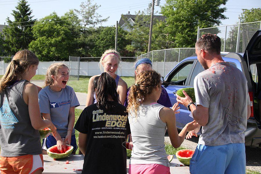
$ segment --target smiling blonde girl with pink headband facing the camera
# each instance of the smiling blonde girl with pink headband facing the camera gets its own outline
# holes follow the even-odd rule
[[[103,53],[99,61],[99,67],[101,72],[106,72],[111,77],[113,77],[113,79],[115,79],[117,85],[119,103],[123,105],[127,94],[127,84],[117,74],[115,74],[117,72],[120,61],[121,61],[121,57],[119,53],[113,49],[109,49]],[[97,76],[100,75],[95,75],[91,77],[89,80],[86,107],[97,102],[95,90],[93,88],[93,81],[94,78]]]

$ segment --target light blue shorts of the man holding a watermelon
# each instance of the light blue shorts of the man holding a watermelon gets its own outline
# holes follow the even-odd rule
[[[192,174],[245,174],[246,153],[244,143],[205,146],[198,144],[190,160]]]

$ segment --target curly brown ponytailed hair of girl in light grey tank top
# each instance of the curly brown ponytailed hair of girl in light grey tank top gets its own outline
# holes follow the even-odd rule
[[[161,89],[161,75],[154,70],[146,70],[137,75],[135,84],[131,86],[128,95],[127,112],[134,111],[137,116],[140,104],[151,94],[153,89]]]

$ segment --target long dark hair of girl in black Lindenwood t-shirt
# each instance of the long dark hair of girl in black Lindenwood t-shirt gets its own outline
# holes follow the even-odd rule
[[[115,80],[108,73],[102,73],[99,76],[96,88],[98,108],[112,109],[113,106],[110,101],[118,101],[116,87]]]

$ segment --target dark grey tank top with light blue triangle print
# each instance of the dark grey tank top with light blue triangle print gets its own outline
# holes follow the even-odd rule
[[[23,100],[21,80],[0,93],[1,156],[38,155],[42,153],[39,131],[32,127],[28,105]]]

